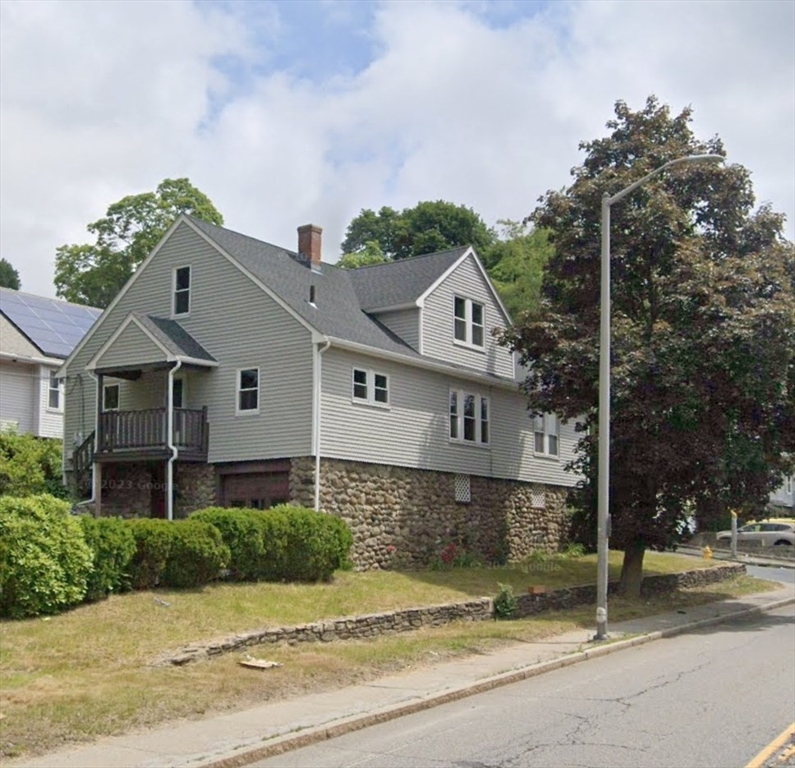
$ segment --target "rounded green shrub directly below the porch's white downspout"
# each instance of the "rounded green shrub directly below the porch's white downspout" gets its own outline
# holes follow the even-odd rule
[[[229,547],[221,532],[201,520],[171,523],[171,547],[162,584],[167,587],[199,587],[217,579],[229,563]]]

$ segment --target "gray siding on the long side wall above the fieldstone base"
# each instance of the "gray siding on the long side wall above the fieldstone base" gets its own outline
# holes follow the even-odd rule
[[[561,461],[533,455],[524,399],[495,387],[456,379],[331,347],[322,356],[321,456],[443,472],[573,485]],[[389,377],[389,408],[353,402],[354,368]],[[449,439],[450,389],[489,398],[488,447]],[[568,434],[561,442],[569,441]],[[566,451],[570,451],[567,446]]]

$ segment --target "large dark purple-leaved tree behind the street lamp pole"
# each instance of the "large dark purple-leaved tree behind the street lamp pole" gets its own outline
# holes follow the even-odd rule
[[[582,422],[574,501],[593,530],[601,197],[668,160],[725,154],[718,137],[694,137],[689,108],[672,116],[650,97],[615,115],[609,136],[580,145],[572,185],[532,214],[555,252],[539,315],[503,337],[529,366],[530,409]],[[612,210],[611,545],[624,550],[627,594],[646,548],[675,542],[688,508],[758,503],[792,465],[795,248],[783,216],[753,204],[745,168],[698,164]]]

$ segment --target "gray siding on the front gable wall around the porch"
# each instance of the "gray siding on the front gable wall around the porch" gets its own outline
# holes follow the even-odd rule
[[[90,395],[95,390],[85,365],[129,312],[170,317],[173,270],[188,265],[190,314],[176,319],[219,362],[217,368],[191,372],[188,395],[190,407],[208,407],[210,461],[309,455],[310,332],[187,224],[174,231],[70,365],[70,381],[81,376],[83,400],[88,397],[91,405],[83,408],[81,419],[80,398],[69,398],[67,434],[94,429]],[[259,414],[236,416],[237,370],[255,367],[260,369]],[[129,396],[135,397],[133,388]]]

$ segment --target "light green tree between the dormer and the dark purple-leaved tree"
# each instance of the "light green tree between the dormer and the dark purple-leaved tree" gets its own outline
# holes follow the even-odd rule
[[[500,219],[499,239],[481,254],[500,298],[514,321],[538,310],[544,267],[553,253],[544,229]]]

